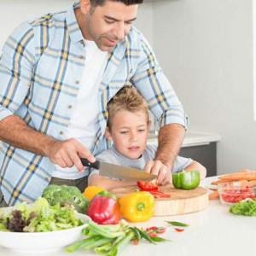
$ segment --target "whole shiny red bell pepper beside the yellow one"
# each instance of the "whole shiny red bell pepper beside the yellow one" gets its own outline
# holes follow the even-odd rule
[[[102,195],[93,197],[87,215],[97,224],[118,224],[121,218],[118,202],[112,197]]]

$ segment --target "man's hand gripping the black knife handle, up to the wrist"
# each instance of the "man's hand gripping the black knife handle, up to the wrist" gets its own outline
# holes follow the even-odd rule
[[[76,166],[79,172],[84,171],[80,157],[86,158],[92,163],[96,160],[95,157],[90,154],[90,151],[73,138],[66,141],[52,142],[46,156],[48,156],[49,160],[54,164],[62,168]]]

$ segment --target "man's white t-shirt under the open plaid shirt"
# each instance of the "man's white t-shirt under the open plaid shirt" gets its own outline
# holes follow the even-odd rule
[[[98,89],[102,82],[102,75],[108,61],[108,52],[97,48],[94,41],[85,42],[85,66],[79,94],[67,132],[62,135],[63,140],[75,138],[85,148],[92,151],[96,137],[98,122]],[[61,168],[55,165],[53,177],[77,179],[88,175],[88,172],[79,172],[76,166]]]

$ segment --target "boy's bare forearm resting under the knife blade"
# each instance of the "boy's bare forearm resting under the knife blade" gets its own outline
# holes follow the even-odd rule
[[[103,189],[114,189],[119,187],[127,187],[136,185],[134,181],[119,181],[108,177],[102,177],[99,174],[91,175],[88,179],[89,186],[99,186]]]

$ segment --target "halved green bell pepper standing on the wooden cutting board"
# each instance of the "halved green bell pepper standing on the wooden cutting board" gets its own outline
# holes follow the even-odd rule
[[[182,171],[172,174],[172,184],[176,189],[195,189],[200,183],[200,172]]]

